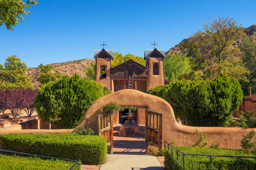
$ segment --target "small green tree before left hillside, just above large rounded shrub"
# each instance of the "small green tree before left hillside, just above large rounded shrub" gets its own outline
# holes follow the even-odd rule
[[[40,73],[38,74],[38,78],[37,78],[37,81],[39,81],[41,84],[40,84],[40,87],[43,87],[44,85],[46,85],[47,83],[49,82],[52,82],[52,81],[55,81],[55,80],[58,80],[60,79],[62,76],[64,76],[63,74],[61,73],[55,73],[53,74],[51,71],[52,71],[52,66],[51,65],[43,65],[43,64],[40,64],[38,65],[40,68],[41,68],[41,71]]]

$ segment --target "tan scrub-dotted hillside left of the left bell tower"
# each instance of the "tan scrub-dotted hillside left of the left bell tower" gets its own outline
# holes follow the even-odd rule
[[[61,73],[63,75],[68,75],[71,77],[74,74],[78,74],[80,78],[86,77],[84,68],[87,68],[89,65],[91,65],[92,62],[95,62],[95,60],[92,59],[83,59],[83,60],[74,60],[74,61],[67,61],[64,63],[53,63],[49,64],[52,65],[52,73]],[[33,86],[39,86],[40,82],[36,81],[38,78],[38,74],[40,73],[39,67],[31,67],[27,68],[26,75],[28,77],[32,77],[31,81],[33,83]]]

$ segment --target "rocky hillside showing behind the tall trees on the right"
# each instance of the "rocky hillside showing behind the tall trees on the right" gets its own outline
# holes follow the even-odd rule
[[[246,28],[244,30],[244,32],[246,33],[247,36],[250,37],[250,39],[256,40],[256,25],[252,25],[252,26]],[[185,53],[185,52],[181,52],[180,51],[179,45],[184,43],[184,42],[186,42],[186,41],[188,41],[188,40],[189,40],[188,38],[187,39],[183,39],[178,45],[170,48],[169,51],[166,51],[165,55],[167,55],[167,54],[174,54],[175,55],[177,53]],[[241,42],[241,39],[234,41],[233,46],[237,47],[240,42]]]

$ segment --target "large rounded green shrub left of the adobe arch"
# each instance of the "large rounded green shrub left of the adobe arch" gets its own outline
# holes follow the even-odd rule
[[[84,117],[85,111],[106,90],[96,81],[63,76],[40,89],[34,102],[38,116],[54,124],[57,129],[76,127]]]

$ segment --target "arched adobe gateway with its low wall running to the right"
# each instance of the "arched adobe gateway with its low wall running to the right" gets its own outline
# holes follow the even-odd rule
[[[98,131],[97,115],[101,112],[97,111],[102,105],[108,102],[117,102],[119,105],[146,106],[148,110],[163,114],[163,147],[164,139],[167,142],[175,141],[176,145],[190,145],[192,140],[197,137],[196,129],[203,135],[207,133],[208,139],[212,141],[220,139],[220,147],[226,148],[224,138],[228,138],[228,148],[240,149],[240,141],[242,135],[250,131],[256,131],[256,128],[223,128],[223,127],[191,127],[180,125],[176,122],[172,107],[165,100],[145,94],[138,90],[125,89],[115,93],[103,96],[96,100],[85,112],[81,123],[73,129],[73,131],[81,130],[82,128],[92,128]],[[256,142],[255,138],[252,140]]]

